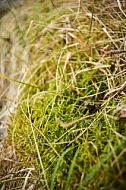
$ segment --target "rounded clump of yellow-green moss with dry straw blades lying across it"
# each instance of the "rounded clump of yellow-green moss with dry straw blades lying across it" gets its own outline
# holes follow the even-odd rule
[[[126,124],[112,112],[125,97],[118,94],[106,100],[104,95],[125,76],[118,73],[118,65],[113,75],[110,55],[100,53],[106,46],[112,48],[110,39],[96,21],[90,33],[84,9],[78,16],[74,8],[60,13],[54,9],[51,16],[49,11],[46,7],[37,19],[32,15],[25,82],[35,87],[23,87],[10,138],[22,162],[35,168],[43,189],[123,189]],[[65,34],[64,17],[69,17],[71,28]]]

